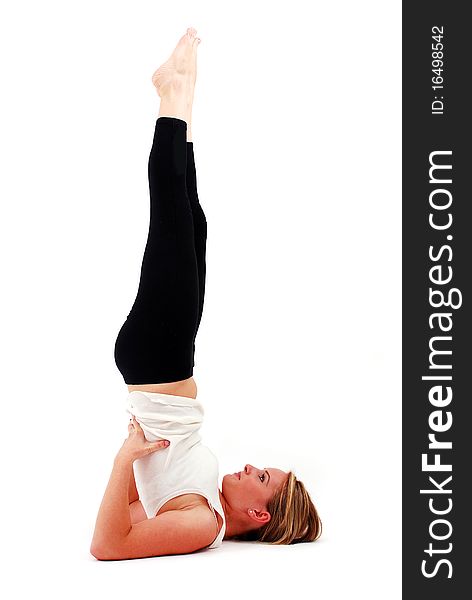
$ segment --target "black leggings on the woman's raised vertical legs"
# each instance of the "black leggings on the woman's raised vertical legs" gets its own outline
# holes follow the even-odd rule
[[[198,201],[187,123],[159,117],[148,163],[151,212],[141,277],[115,342],[128,385],[168,383],[193,374],[205,295],[207,223]]]

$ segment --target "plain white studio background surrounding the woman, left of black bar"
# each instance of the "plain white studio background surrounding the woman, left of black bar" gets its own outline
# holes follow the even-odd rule
[[[42,0],[0,16],[8,597],[400,598],[400,2]],[[127,436],[113,348],[148,228],[151,76],[188,26],[203,441],[221,476],[294,469],[324,534],[100,562],[90,541]]]

